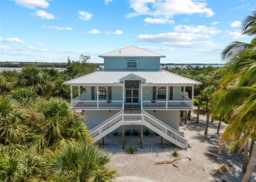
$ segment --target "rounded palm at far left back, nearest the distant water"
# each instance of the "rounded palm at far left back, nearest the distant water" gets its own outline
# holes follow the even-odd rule
[[[51,87],[50,81],[50,76],[40,68],[26,66],[18,73],[14,86],[28,87],[38,95],[47,95]]]

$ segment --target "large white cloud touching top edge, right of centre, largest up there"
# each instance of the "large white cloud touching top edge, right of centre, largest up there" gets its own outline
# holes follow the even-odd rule
[[[214,15],[212,9],[202,0],[129,0],[130,8],[134,12],[126,15],[126,18],[133,18],[140,15],[164,16],[171,18],[174,15],[195,13],[204,14],[206,17]]]

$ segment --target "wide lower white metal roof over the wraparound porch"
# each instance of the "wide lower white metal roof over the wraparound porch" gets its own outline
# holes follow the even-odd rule
[[[136,74],[144,78],[146,80],[145,84],[201,84],[189,78],[159,69],[103,69],[69,80],[64,84],[114,84],[120,83],[120,79],[129,74]]]

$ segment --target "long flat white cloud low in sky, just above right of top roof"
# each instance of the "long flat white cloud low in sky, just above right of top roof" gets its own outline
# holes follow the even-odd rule
[[[138,41],[145,41],[151,43],[160,43],[163,45],[173,46],[173,47],[208,47],[216,46],[216,43],[212,41],[194,41],[192,39],[197,38],[208,38],[208,35],[196,34],[196,33],[160,33],[157,35],[141,34],[138,35]]]

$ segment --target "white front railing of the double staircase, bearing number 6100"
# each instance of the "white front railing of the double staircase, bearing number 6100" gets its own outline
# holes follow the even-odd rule
[[[186,147],[188,147],[188,140],[184,138],[182,133],[176,131],[146,112],[143,112],[142,114],[123,114],[123,112],[118,112],[116,115],[110,117],[102,124],[91,130],[92,139],[97,141],[114,131],[119,126],[131,123],[140,123],[145,125],[182,149],[186,149]]]

